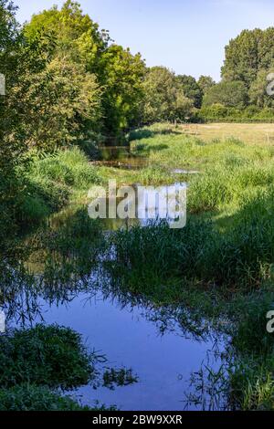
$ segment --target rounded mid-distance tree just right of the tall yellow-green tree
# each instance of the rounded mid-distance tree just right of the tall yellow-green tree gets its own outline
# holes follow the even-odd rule
[[[148,69],[143,82],[143,121],[184,120],[191,115],[193,102],[184,96],[174,72],[164,67]]]

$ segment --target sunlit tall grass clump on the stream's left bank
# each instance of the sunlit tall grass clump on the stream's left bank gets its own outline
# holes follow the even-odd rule
[[[39,224],[69,201],[87,194],[90,186],[100,183],[98,169],[78,148],[58,151],[44,158],[33,157],[25,174],[25,191],[18,204],[21,225]]]

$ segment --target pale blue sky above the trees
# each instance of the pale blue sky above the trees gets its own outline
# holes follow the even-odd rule
[[[17,19],[63,0],[14,0]],[[109,29],[111,37],[132,53],[141,52],[148,66],[216,80],[224,47],[244,28],[274,26],[273,0],[79,0],[85,13]]]

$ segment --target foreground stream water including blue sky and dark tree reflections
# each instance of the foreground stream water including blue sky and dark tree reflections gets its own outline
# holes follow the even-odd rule
[[[55,218],[28,239],[34,251],[25,269],[11,271],[9,281],[1,283],[0,308],[7,328],[26,328],[41,320],[70,327],[88,340],[90,349],[107,355],[111,366],[132,368],[138,375],[139,382],[115,391],[84,386],[75,392],[82,403],[183,410],[191,373],[201,367],[216,339],[221,349],[224,343],[189,309],[155,307],[113,283],[103,261],[115,254],[106,255],[98,225],[85,224],[86,212],[76,209],[67,219]],[[213,369],[220,365],[217,358]],[[194,398],[188,398],[189,409],[202,409],[205,401]]]

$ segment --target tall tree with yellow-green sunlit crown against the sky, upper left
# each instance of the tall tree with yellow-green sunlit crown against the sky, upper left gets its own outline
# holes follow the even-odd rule
[[[60,10],[54,6],[33,16],[24,34],[28,41],[37,37],[55,40],[53,49],[48,45],[51,59],[67,58],[81,65],[83,73],[96,76],[101,104],[97,131],[107,141],[119,139],[138,120],[145,73],[140,54],[132,56],[129,49],[111,43],[108,31],[100,30],[78,3],[68,0]]]

